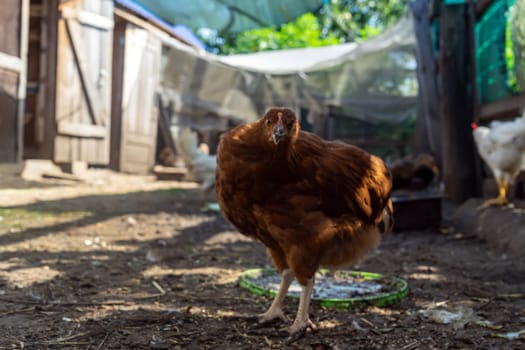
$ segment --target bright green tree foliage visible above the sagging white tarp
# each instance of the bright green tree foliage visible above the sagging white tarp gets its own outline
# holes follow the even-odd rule
[[[374,37],[396,23],[409,0],[330,0],[316,13],[306,13],[280,28],[259,28],[204,37],[218,54],[335,45]]]

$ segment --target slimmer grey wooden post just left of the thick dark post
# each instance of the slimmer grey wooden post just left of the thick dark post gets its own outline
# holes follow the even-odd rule
[[[419,83],[415,153],[428,152],[432,154],[441,169],[439,95],[434,48],[430,36],[428,1],[415,0],[410,3],[410,8],[414,14],[414,32],[417,40],[417,79]]]

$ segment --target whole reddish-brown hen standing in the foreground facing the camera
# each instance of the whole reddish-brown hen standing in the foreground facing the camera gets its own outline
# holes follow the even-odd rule
[[[217,198],[225,217],[261,241],[282,275],[261,322],[285,319],[295,277],[302,286],[291,334],[315,329],[309,318],[315,272],[356,263],[393,224],[389,170],[360,148],[299,130],[294,112],[266,115],[221,137]],[[379,228],[380,227],[380,228]]]

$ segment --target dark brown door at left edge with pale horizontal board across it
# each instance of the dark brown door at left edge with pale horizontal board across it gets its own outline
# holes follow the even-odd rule
[[[22,157],[28,0],[4,0],[0,11],[0,162]]]

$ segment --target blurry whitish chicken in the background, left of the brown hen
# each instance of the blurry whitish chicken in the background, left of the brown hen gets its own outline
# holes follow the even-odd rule
[[[199,147],[197,133],[189,128],[181,129],[176,145],[191,179],[200,182],[204,191],[212,189],[215,185],[216,157],[203,152]]]

